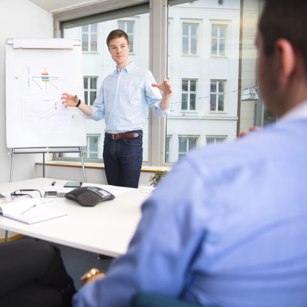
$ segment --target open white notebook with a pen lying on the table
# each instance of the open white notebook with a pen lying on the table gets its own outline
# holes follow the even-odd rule
[[[64,211],[41,204],[39,198],[22,198],[0,203],[0,213],[5,217],[27,224],[67,215]]]

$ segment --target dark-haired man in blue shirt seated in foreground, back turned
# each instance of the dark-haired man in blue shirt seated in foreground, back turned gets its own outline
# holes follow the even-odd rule
[[[307,2],[268,0],[257,74],[277,124],[180,160],[142,206],[125,255],[75,307],[140,291],[207,306],[307,305]]]

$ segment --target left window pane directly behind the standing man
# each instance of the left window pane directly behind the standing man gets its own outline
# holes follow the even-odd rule
[[[149,10],[149,8],[148,8]],[[144,8],[141,9],[141,12]],[[138,10],[131,11],[137,13]],[[130,62],[134,62],[137,66],[149,69],[149,18],[148,13],[129,15],[123,14],[117,17],[117,14],[110,15],[108,18],[101,17],[102,22],[82,24],[83,21],[76,21],[76,26],[68,24],[68,28],[64,27],[64,38],[79,39],[81,33],[82,50],[82,69],[84,81],[84,102],[92,106],[94,104],[97,92],[101,87],[102,80],[116,69],[116,63],[112,59],[106,46],[106,38],[109,32],[114,29],[121,29],[128,34],[130,44]],[[97,19],[96,19],[97,20]],[[88,22],[88,21],[87,21]],[[84,21],[85,23],[85,21]],[[135,37],[138,37],[142,43],[142,52],[136,53]],[[92,42],[90,44],[90,41]],[[95,44],[93,42],[96,42]],[[98,44],[98,45],[97,45]],[[94,48],[94,49],[93,49]],[[99,50],[98,52],[93,52]],[[88,51],[88,52],[87,52]],[[92,51],[92,52],[90,52]],[[87,146],[83,149],[86,152],[83,156],[89,159],[102,159],[103,140],[104,140],[104,119],[95,121],[86,118],[86,134]],[[66,157],[74,157],[74,154],[65,154]],[[145,124],[143,132],[143,161],[148,160],[148,121]]]

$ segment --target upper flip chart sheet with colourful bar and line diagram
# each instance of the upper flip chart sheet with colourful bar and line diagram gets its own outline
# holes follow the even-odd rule
[[[59,65],[26,65],[23,68],[23,94],[62,93],[68,89],[68,69]]]

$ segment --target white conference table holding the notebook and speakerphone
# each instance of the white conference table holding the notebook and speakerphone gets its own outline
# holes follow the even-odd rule
[[[67,180],[36,178],[0,185],[1,192],[18,189],[37,189],[44,193],[44,185],[64,185]],[[29,192],[30,193],[30,192]],[[36,192],[37,193],[37,192]],[[31,194],[36,197],[35,192]],[[62,197],[50,204],[68,215],[26,224],[0,214],[0,228],[30,237],[55,242],[98,254],[118,257],[128,248],[141,218],[141,204],[150,194],[140,189],[117,195],[115,199],[102,201],[94,207],[82,207],[74,200]]]

